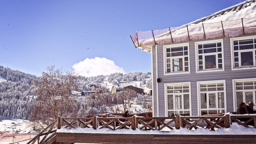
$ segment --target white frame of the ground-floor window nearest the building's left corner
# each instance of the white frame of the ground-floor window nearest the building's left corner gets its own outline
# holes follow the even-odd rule
[[[192,104],[191,104],[191,82],[178,82],[178,83],[165,83],[164,91],[165,91],[165,116],[168,117],[168,93],[167,86],[175,86],[175,85],[188,85],[189,86],[189,114],[192,116]],[[183,94],[183,93],[175,93],[175,94]],[[175,106],[175,100],[173,101],[173,106]],[[182,111],[184,110],[184,101],[182,97],[182,109],[173,109],[172,111]]]

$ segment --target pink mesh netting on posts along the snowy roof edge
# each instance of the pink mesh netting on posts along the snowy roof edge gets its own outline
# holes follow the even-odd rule
[[[256,18],[191,24],[147,32],[136,32],[132,39],[136,48],[151,51],[148,45],[179,42],[192,39],[235,37],[256,32]]]

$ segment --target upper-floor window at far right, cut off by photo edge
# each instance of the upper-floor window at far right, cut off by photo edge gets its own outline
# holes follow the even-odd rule
[[[231,38],[232,69],[255,67],[256,37]]]

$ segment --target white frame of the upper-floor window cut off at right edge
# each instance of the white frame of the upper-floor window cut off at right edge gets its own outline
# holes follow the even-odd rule
[[[246,40],[246,39],[256,39],[256,36],[243,36],[243,37],[234,37],[230,38],[230,48],[231,48],[231,70],[242,70],[242,69],[255,69],[256,68],[256,62],[255,62],[255,49],[248,49],[248,50],[235,50],[238,51],[238,57],[239,57],[239,65],[241,65],[241,58],[240,58],[240,52],[247,52],[247,51],[253,51],[254,56],[253,56],[253,65],[250,66],[241,66],[241,67],[236,67],[235,66],[235,59],[234,59],[234,43],[233,41],[235,40]]]

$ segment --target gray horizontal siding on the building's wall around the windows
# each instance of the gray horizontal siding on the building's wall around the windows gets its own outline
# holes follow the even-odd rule
[[[252,36],[255,34],[250,34],[246,36]],[[153,57],[153,98],[154,98],[154,116],[157,112],[157,91],[156,87],[158,84],[158,105],[159,105],[159,116],[165,116],[165,92],[164,83],[173,82],[191,82],[191,106],[192,106],[192,116],[198,115],[197,106],[197,81],[207,81],[207,80],[226,80],[226,101],[227,101],[227,112],[233,112],[233,90],[232,90],[232,79],[246,79],[246,78],[256,78],[256,69],[244,69],[244,70],[231,70],[231,48],[230,48],[230,38],[219,38],[223,39],[224,47],[224,66],[225,71],[219,72],[205,72],[196,73],[196,61],[195,61],[195,42],[205,41],[203,40],[190,40],[184,41],[184,43],[189,42],[189,56],[190,56],[190,73],[189,74],[177,74],[177,75],[166,75],[164,76],[164,54],[163,45],[169,45],[171,43],[158,44],[157,45],[157,70],[158,75],[156,75],[156,49],[155,46],[152,48]],[[212,40],[212,39],[207,39]],[[156,82],[156,79],[160,78],[162,81],[160,83]]]

